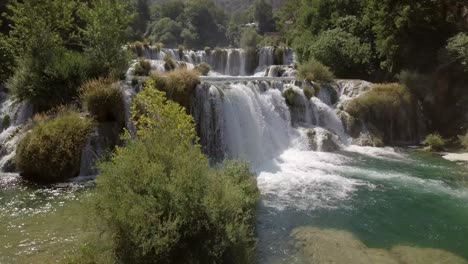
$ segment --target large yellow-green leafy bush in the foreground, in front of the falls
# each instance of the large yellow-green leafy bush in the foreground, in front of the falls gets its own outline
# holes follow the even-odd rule
[[[259,193],[248,166],[211,169],[193,118],[160,91],[137,95],[133,114],[138,139],[100,164],[94,199],[117,262],[252,263]]]

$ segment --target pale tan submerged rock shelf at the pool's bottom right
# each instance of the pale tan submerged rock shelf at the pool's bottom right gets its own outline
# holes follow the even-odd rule
[[[395,246],[369,248],[352,233],[336,229],[300,227],[292,231],[295,248],[304,263],[334,264],[467,264],[463,258],[441,249]]]

